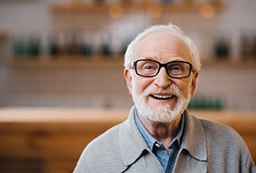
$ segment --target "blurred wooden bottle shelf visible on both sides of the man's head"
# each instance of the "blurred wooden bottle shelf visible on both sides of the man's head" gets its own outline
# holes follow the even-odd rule
[[[256,58],[202,61],[202,68],[256,68]],[[123,56],[16,56],[10,67],[104,67],[123,68]]]

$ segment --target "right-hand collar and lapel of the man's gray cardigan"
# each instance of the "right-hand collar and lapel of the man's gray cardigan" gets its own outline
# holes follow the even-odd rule
[[[185,112],[186,121],[174,172],[207,172],[207,147],[204,129],[197,117]],[[202,171],[204,170],[204,171]]]

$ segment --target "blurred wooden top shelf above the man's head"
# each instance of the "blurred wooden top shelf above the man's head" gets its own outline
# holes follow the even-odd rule
[[[220,1],[208,4],[155,4],[155,3],[138,3],[138,4],[115,4],[119,5],[124,10],[140,9],[146,10],[150,7],[160,7],[164,12],[175,11],[198,11],[204,5],[210,5],[216,10],[225,8],[225,5]],[[51,10],[54,13],[80,13],[80,12],[108,12],[112,5],[86,5],[86,4],[66,4],[66,5],[52,5]]]

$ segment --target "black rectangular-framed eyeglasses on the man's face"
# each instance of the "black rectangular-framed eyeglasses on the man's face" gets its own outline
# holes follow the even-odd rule
[[[186,61],[171,61],[161,64],[151,59],[139,59],[133,62],[133,67],[138,76],[157,76],[163,66],[168,76],[173,78],[187,78],[192,71],[192,65]]]

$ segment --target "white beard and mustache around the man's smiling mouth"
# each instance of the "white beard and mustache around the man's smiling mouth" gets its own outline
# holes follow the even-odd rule
[[[134,88],[134,81],[133,81]],[[175,95],[176,106],[172,109],[169,104],[162,104],[157,107],[150,107],[147,103],[147,97],[151,94],[163,93]],[[133,89],[133,102],[140,116],[145,117],[153,122],[170,123],[179,117],[187,108],[190,100],[190,92],[184,96],[178,86],[172,84],[163,89],[157,86],[148,86],[141,95],[137,95]]]

